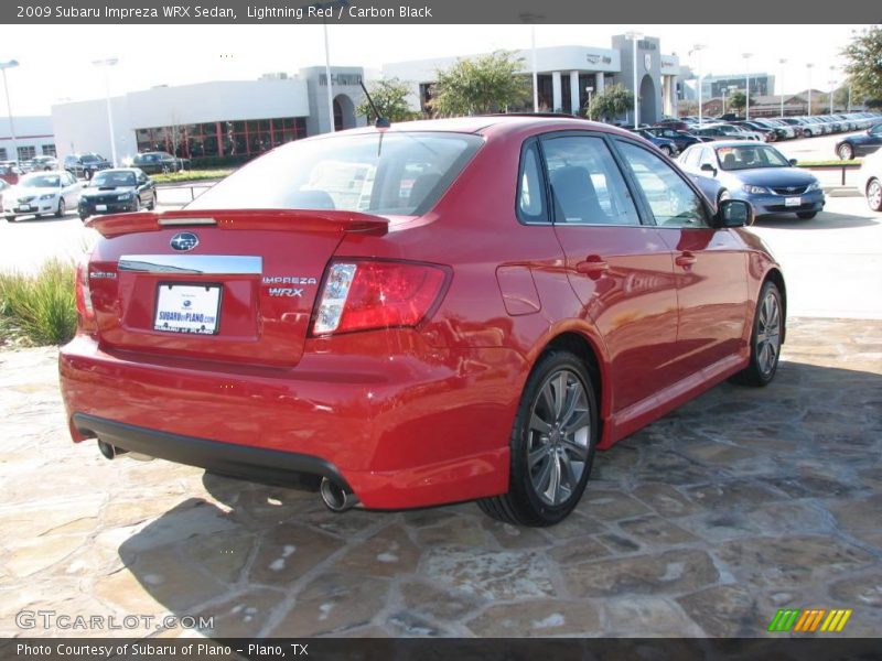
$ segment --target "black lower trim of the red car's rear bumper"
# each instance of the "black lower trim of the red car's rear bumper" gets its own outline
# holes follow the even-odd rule
[[[74,413],[74,426],[84,436],[158,459],[273,484],[290,484],[292,474],[319,475],[352,491],[336,466],[312,455],[170,434],[86,413]]]

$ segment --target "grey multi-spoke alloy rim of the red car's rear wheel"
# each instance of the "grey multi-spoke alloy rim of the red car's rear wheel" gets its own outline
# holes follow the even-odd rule
[[[577,491],[589,456],[591,411],[579,376],[561,369],[546,379],[533,404],[527,463],[534,491],[552,507]]]

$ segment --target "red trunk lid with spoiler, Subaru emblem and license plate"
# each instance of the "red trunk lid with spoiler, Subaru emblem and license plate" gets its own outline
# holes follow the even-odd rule
[[[336,210],[181,210],[100,216],[89,262],[106,349],[290,367],[322,275],[347,232],[385,218]]]

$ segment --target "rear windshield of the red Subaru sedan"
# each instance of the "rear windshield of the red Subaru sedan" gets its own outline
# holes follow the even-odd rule
[[[237,170],[187,208],[421,215],[482,142],[477,136],[440,132],[377,132],[292,142]]]

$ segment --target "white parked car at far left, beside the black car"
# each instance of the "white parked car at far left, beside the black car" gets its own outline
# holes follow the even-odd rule
[[[19,216],[39,218],[54,214],[61,218],[67,209],[76,209],[83,184],[69,172],[32,172],[3,192],[3,216],[14,223]]]

